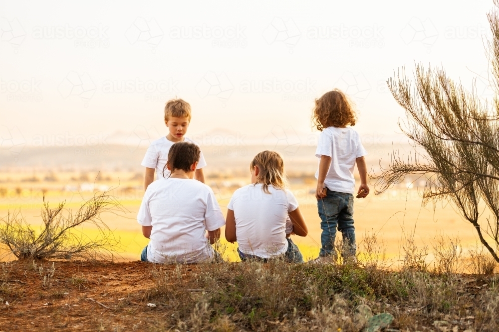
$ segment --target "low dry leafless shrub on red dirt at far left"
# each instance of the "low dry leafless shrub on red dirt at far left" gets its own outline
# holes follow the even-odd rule
[[[84,202],[74,214],[64,209],[64,205],[62,202],[56,208],[50,208],[43,197],[43,224],[39,231],[26,223],[20,211],[9,212],[0,219],[0,244],[19,259],[102,259],[107,258],[104,257],[106,253],[112,255],[118,242],[100,215],[124,212],[119,202],[103,192]],[[76,227],[86,223],[96,226],[100,232],[98,238],[88,238],[75,231]]]

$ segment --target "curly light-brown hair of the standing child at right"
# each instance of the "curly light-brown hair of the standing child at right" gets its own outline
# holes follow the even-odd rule
[[[355,125],[357,114],[347,96],[338,89],[326,92],[315,100],[312,123],[317,130],[327,127]]]

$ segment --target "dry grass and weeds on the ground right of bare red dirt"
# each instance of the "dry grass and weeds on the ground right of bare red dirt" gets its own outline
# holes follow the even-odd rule
[[[166,310],[162,329],[172,331],[361,331],[366,308],[392,314],[394,331],[498,331],[499,278],[457,273],[466,269],[459,239],[436,238],[433,268],[428,247],[408,236],[403,248],[396,271],[375,234],[361,242],[358,264],[155,266],[146,297]],[[472,264],[483,266],[477,257]]]

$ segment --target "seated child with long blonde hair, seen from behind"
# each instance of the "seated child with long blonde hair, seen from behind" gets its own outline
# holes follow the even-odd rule
[[[260,152],[251,161],[250,171],[252,184],[236,190],[229,202],[227,241],[238,241],[242,260],[283,257],[303,263],[289,234],[306,236],[308,229],[296,198],[286,188],[281,156],[274,151]]]

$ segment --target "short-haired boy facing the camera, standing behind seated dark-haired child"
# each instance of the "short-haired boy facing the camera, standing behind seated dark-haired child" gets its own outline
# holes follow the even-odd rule
[[[182,99],[172,99],[166,103],[165,124],[168,127],[169,133],[166,137],[163,136],[153,141],[142,160],[141,165],[146,167],[144,190],[154,181],[154,173],[156,173],[156,179],[168,178],[170,174],[170,171],[166,169],[168,151],[174,143],[182,141],[194,143],[189,138],[184,137],[190,122],[191,105],[189,103]],[[203,174],[203,167],[205,166],[205,157],[201,153],[194,178],[203,183],[205,182]]]

